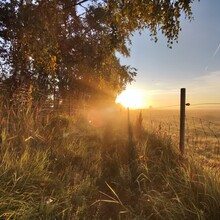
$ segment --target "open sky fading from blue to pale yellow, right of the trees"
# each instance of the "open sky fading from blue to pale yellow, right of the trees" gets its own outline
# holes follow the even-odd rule
[[[180,88],[186,88],[187,102],[220,103],[220,0],[192,4],[194,19],[181,18],[178,43],[167,47],[164,36],[150,40],[146,30],[131,37],[130,57],[122,64],[137,68],[128,90],[141,91],[142,107],[178,106]]]

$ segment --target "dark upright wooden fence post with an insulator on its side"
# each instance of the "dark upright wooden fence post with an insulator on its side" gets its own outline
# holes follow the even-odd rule
[[[180,90],[180,153],[184,154],[185,115],[186,115],[186,89]]]

